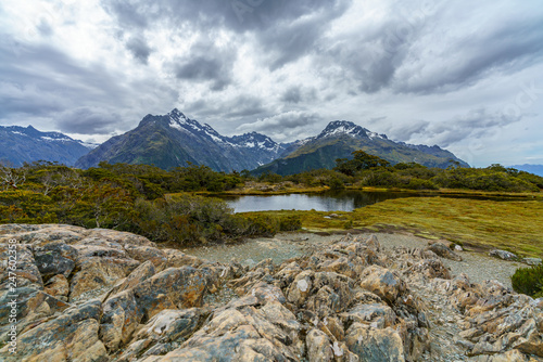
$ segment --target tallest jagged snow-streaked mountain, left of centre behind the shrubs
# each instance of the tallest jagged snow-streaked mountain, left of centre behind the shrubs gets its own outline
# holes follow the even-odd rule
[[[169,169],[187,161],[217,171],[254,169],[277,158],[282,145],[256,132],[226,137],[177,108],[163,116],[147,115],[137,128],[114,137],[81,157],[76,166],[109,163],[153,164]]]

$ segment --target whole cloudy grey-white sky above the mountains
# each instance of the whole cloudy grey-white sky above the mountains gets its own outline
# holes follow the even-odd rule
[[[103,142],[177,107],[277,142],[350,120],[543,164],[541,0],[2,0],[0,125]]]

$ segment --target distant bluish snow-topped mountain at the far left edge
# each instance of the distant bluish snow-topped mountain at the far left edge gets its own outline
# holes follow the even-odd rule
[[[0,126],[0,160],[14,167],[36,160],[73,166],[93,147],[60,132],[41,132],[31,126]]]

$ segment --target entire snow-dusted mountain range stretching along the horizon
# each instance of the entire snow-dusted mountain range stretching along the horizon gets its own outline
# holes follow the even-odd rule
[[[353,151],[363,150],[391,164],[415,161],[444,168],[452,159],[469,167],[437,145],[394,142],[386,134],[345,120],[331,121],[315,137],[277,143],[256,132],[222,135],[210,125],[190,119],[175,108],[166,115],[147,115],[135,129],[115,135],[93,150],[62,133],[39,132],[31,127],[3,127],[1,131],[0,142],[5,147],[0,159],[3,156],[16,166],[36,159],[55,160],[84,169],[98,166],[100,161],[152,164],[164,169],[191,163],[225,172],[245,169],[255,174],[267,171],[291,174],[333,168],[337,158],[350,158]],[[45,152],[46,146],[50,150],[56,147],[56,153]]]

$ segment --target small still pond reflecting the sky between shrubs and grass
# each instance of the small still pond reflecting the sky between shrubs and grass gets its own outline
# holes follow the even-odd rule
[[[445,195],[417,192],[367,192],[357,190],[327,191],[314,194],[288,194],[270,196],[225,196],[236,212],[269,210],[317,210],[317,211],[352,211],[356,208],[402,197],[463,197],[493,201],[526,201],[523,197],[490,197],[480,195]]]

